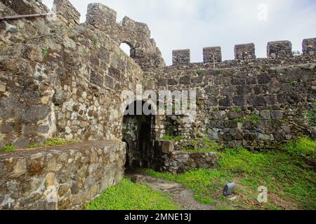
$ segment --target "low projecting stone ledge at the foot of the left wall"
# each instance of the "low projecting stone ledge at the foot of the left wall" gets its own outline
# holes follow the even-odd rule
[[[81,209],[124,176],[125,144],[0,152],[0,209]]]

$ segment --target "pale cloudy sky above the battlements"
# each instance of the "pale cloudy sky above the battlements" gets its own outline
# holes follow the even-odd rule
[[[177,49],[190,48],[192,62],[202,62],[204,47],[220,45],[223,59],[233,59],[235,44],[255,43],[257,57],[265,57],[268,41],[289,40],[301,51],[303,38],[316,37],[315,0],[70,1],[80,11],[81,22],[88,3],[100,2],[117,11],[118,21],[127,15],[147,23],[167,64]],[[53,0],[43,2],[51,8]]]

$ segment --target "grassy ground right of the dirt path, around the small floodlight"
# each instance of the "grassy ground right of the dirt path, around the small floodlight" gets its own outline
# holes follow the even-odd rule
[[[225,149],[219,153],[218,169],[198,169],[178,175],[148,170],[147,174],[183,183],[195,192],[197,201],[216,204],[221,210],[316,209],[315,172],[301,167],[304,163],[301,155],[315,159],[315,149],[316,141],[305,138],[279,151],[265,153]],[[235,200],[222,195],[223,186],[230,181],[237,184]],[[268,203],[258,203],[259,186],[268,188]]]

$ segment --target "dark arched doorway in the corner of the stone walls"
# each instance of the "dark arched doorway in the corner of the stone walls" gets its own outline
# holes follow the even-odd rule
[[[127,144],[126,169],[155,168],[157,151],[154,147],[155,116],[137,111],[137,106],[150,108],[147,102],[133,102],[126,107],[123,118],[122,141]],[[138,113],[137,113],[138,112]]]

